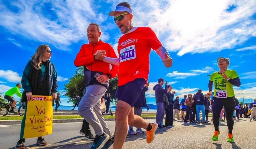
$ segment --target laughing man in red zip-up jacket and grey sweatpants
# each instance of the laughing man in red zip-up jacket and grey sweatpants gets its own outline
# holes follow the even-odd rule
[[[100,99],[108,89],[109,79],[115,78],[118,70],[115,65],[110,70],[110,64],[102,61],[105,56],[116,58],[116,54],[111,45],[100,40],[100,35],[100,26],[91,23],[87,28],[89,44],[82,45],[74,61],[76,67],[84,66],[85,91],[78,114],[94,129],[96,139],[92,148],[102,148],[112,138],[101,114]]]

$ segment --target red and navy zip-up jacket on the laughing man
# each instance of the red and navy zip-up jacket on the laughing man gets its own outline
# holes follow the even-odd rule
[[[115,78],[117,75],[118,66],[112,65],[112,69],[110,69],[111,67],[109,63],[100,60],[94,60],[93,55],[96,53],[97,50],[105,50],[106,56],[117,58],[113,47],[110,44],[100,40],[95,45],[91,43],[82,45],[79,53],[76,55],[74,64],[76,67],[84,66],[85,86],[98,84],[108,88],[109,81],[107,81],[105,84],[101,84],[96,80],[94,75],[96,73],[99,73],[100,75],[106,75],[109,73],[112,75],[111,78]]]

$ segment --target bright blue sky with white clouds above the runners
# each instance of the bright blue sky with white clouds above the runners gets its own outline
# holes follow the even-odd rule
[[[64,85],[73,75],[74,59],[88,43],[89,23],[100,25],[101,39],[117,48],[121,33],[108,13],[122,1],[66,0],[44,2],[0,0],[0,93],[21,80],[22,72],[37,46],[48,44],[58,73],[58,91],[66,103]],[[173,65],[165,68],[154,51],[150,53],[148,103],[155,104],[153,86],[158,78],[172,84],[176,96],[208,91],[216,59],[230,58],[228,69],[236,70],[241,86],[234,87],[241,100],[256,98],[256,1],[129,1],[134,26],[151,27],[169,51]],[[22,90],[21,90],[22,91]],[[14,96],[19,99],[17,96]],[[245,102],[250,102],[248,100]]]

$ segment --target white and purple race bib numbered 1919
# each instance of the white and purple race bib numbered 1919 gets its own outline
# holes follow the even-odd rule
[[[135,59],[136,58],[135,51],[136,51],[135,45],[131,45],[129,47],[121,49],[120,50],[120,63],[127,61],[127,60]]]

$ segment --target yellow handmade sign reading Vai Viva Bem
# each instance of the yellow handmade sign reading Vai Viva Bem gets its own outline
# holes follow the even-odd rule
[[[33,95],[28,101],[23,138],[34,138],[52,133],[52,96]]]

